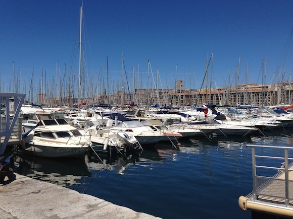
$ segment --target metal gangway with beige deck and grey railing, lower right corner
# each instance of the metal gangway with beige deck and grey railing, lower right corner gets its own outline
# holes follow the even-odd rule
[[[292,147],[268,147],[260,145],[248,145],[252,147],[253,156],[253,191],[247,196],[240,196],[238,204],[242,210],[252,210],[262,213],[278,215],[278,216],[293,216],[293,163],[288,164],[288,150],[293,150]],[[284,158],[258,156],[255,154],[255,148],[271,148],[284,150]],[[256,158],[283,159],[284,167],[268,167],[256,165]],[[258,176],[256,169],[271,169],[277,170],[277,174],[273,177]]]

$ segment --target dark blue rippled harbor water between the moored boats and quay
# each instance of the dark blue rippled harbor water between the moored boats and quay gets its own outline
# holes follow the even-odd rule
[[[293,129],[179,142],[176,148],[158,143],[130,160],[94,153],[44,159],[17,152],[15,171],[162,218],[251,218],[251,211],[238,207],[238,197],[253,189],[246,145],[292,145]]]

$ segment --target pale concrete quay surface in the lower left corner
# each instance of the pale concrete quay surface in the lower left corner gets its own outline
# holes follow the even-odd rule
[[[0,218],[159,218],[14,173],[0,184]],[[7,177],[6,177],[7,179]]]

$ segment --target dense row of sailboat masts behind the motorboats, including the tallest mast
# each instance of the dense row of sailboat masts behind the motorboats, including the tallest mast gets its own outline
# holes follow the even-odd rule
[[[80,103],[82,103],[84,100],[88,100],[88,99],[94,99],[95,96],[97,95],[101,95],[102,96],[102,99],[101,101],[104,103],[104,104],[110,104],[110,93],[112,93],[112,95],[114,95],[115,93],[117,93],[115,91],[115,87],[117,87],[117,90],[119,91],[120,90],[120,86],[119,86],[119,80],[117,80],[117,86],[115,86],[115,82],[113,81],[113,89],[112,89],[112,92],[110,92],[110,83],[109,83],[109,63],[108,63],[108,56],[107,56],[107,92],[106,92],[106,89],[105,89],[105,83],[103,81],[102,83],[102,77],[101,77],[101,72],[102,72],[102,65],[101,65],[101,70],[100,70],[100,74],[99,76],[97,77],[96,79],[96,83],[93,83],[93,78],[94,78],[94,72],[92,72],[92,77],[91,79],[86,83],[85,82],[85,69],[84,67],[82,68],[82,66],[85,65],[85,58],[84,58],[84,55],[83,55],[83,62],[82,62],[82,24],[83,24],[83,11],[82,11],[82,6],[80,7],[80,31],[79,31],[79,44],[78,44],[78,47],[79,47],[79,67],[78,67],[78,86],[77,86],[77,91],[75,90],[75,79],[74,79],[74,74],[71,73],[68,77],[68,81],[66,82],[66,64],[65,64],[65,72],[64,72],[64,77],[62,79],[61,77],[61,68],[57,66],[57,63],[56,63],[56,72],[55,72],[55,79],[53,77],[52,81],[49,80],[49,82],[47,83],[46,82],[46,71],[43,73],[43,70],[42,70],[42,73],[41,73],[41,79],[40,79],[40,82],[39,82],[39,89],[35,89],[34,87],[34,69],[33,69],[33,72],[32,72],[32,78],[31,78],[31,82],[30,82],[30,86],[29,86],[29,89],[28,89],[28,92],[26,91],[26,86],[25,86],[25,82],[24,82],[24,88],[23,88],[23,93],[28,93],[28,102],[41,102],[41,103],[38,103],[38,104],[50,104],[52,105],[53,103],[47,103],[46,101],[48,99],[51,99],[51,100],[54,100],[55,99],[55,105],[57,104],[57,98],[59,97],[59,104],[60,105],[61,103],[65,103],[67,102],[68,103],[68,100],[72,100],[73,104],[74,104],[74,100],[76,99],[75,98],[75,95],[77,93],[77,104],[80,105]],[[210,102],[212,103],[212,90],[213,90],[213,58],[214,58],[214,53],[211,54],[211,57],[209,60],[206,61],[206,71],[205,71],[205,75],[204,75],[204,79],[202,80],[202,86],[200,88],[200,92],[206,92],[206,97],[209,96],[207,102]],[[228,79],[228,89],[231,89],[232,87],[232,82],[235,81],[235,88],[236,88],[236,103],[239,102],[238,100],[238,84],[239,84],[239,75],[240,75],[240,60],[241,60],[241,57],[239,57],[239,61],[238,61],[238,64],[237,66],[235,66],[235,74],[234,74],[234,77],[235,77],[235,80],[230,80],[230,74],[231,74],[231,71],[229,71],[229,79]],[[83,65],[82,65],[83,64]],[[262,88],[263,88],[263,100],[262,100],[262,103],[260,103],[261,105],[264,105],[265,104],[265,100],[266,100],[266,91],[265,91],[265,87],[266,87],[266,64],[267,64],[267,58],[265,57],[265,59],[263,60],[262,62]],[[59,69],[59,70],[58,70]],[[58,71],[59,71],[59,84],[58,84]],[[137,65],[137,72],[138,72],[138,76],[139,76],[139,65]],[[209,72],[210,72],[210,77],[209,77]],[[43,78],[43,74],[45,75],[44,78]],[[176,75],[177,75],[177,78],[176,80],[178,80],[178,69],[177,69],[177,65],[176,65]],[[195,73],[194,73],[195,75]],[[249,75],[249,66],[247,65],[247,68],[246,68],[246,76],[245,76],[245,83],[248,84],[248,75]],[[274,74],[275,76],[276,74]],[[18,75],[16,77],[15,75],[15,62],[13,62],[13,76],[14,76],[14,81],[13,81],[13,92],[14,93],[22,93],[21,92],[21,70],[19,68],[18,70]],[[153,82],[150,83],[150,76],[152,76],[152,79],[153,79]],[[99,83],[99,77],[100,77],[100,83]],[[195,77],[194,77],[195,78]],[[289,76],[290,78],[290,76]],[[126,79],[126,83],[124,81],[124,79]],[[127,72],[126,72],[126,69],[125,69],[125,64],[124,64],[124,59],[123,59],[123,55],[121,56],[121,105],[123,105],[125,102],[134,102],[135,99],[136,99],[136,104],[139,104],[139,101],[136,96],[135,98],[135,90],[136,88],[139,90],[139,88],[141,89],[143,86],[142,86],[142,76],[140,77],[140,83],[137,83],[137,86],[136,86],[136,74],[135,74],[135,68],[134,66],[132,67],[132,92],[131,92],[131,89],[129,88],[129,81],[128,81],[128,78],[127,78]],[[139,79],[138,79],[139,80]],[[171,77],[171,80],[172,80],[172,77]],[[172,85],[172,81],[170,80],[170,83],[167,83],[167,79],[166,79],[166,88],[165,90],[168,90],[168,89],[171,89],[171,86],[168,88],[168,84]],[[284,80],[284,73],[282,74],[282,79],[281,79],[281,82]],[[45,81],[43,83],[43,81]],[[155,90],[155,96],[156,98],[158,99],[159,101],[159,96],[160,96],[160,90],[162,92],[162,82],[161,82],[161,86],[159,85],[159,81],[161,82],[161,78],[160,78],[160,75],[159,75],[159,70],[157,68],[156,70],[156,78],[154,78],[154,74],[153,74],[153,71],[152,71],[152,66],[151,66],[151,62],[150,60],[148,60],[148,80],[147,80],[147,84],[146,84],[146,88],[150,91],[150,90],[153,90],[153,87],[154,87],[154,90]],[[206,82],[206,87],[205,89],[203,88],[203,85],[204,85],[204,82]],[[279,82],[278,82],[279,83]],[[94,92],[94,84],[95,84],[95,92]],[[99,84],[100,84],[100,91],[99,91]],[[58,86],[59,85],[59,86]],[[66,86],[65,86],[66,85]],[[103,85],[103,86],[101,86]],[[127,91],[125,90],[127,86]],[[59,87],[59,89],[58,89]],[[86,87],[88,88],[87,91],[85,91]],[[161,87],[161,89],[160,89]],[[189,86],[190,89],[191,89],[191,85]],[[194,87],[195,86],[195,83],[194,83]],[[176,88],[175,88],[176,89]],[[0,81],[0,91],[4,89],[1,89],[1,81]],[[180,87],[180,91],[179,93],[181,93],[182,91],[184,91],[185,88],[181,88]],[[9,88],[9,92],[10,92],[10,88]],[[207,93],[209,92],[209,94]],[[99,94],[100,93],[100,94]],[[120,92],[118,92],[120,93]],[[125,93],[127,94],[126,97],[127,97],[127,100],[125,99]],[[164,92],[163,92],[164,93]],[[229,90],[228,90],[228,93],[229,93]],[[248,87],[246,87],[246,93],[248,93]],[[41,99],[38,98],[38,95],[41,94]],[[44,94],[44,95],[43,95]],[[67,94],[67,95],[66,95]],[[132,94],[132,95],[131,95]],[[48,95],[48,96],[47,96]],[[164,94],[165,95],[165,94]],[[245,102],[248,103],[248,94],[245,95],[246,96],[246,100]],[[166,94],[166,97],[167,98],[167,94]],[[66,101],[67,99],[67,101]],[[154,98],[153,98],[154,99]],[[153,100],[154,101],[154,100]],[[149,103],[151,102],[151,100],[149,100]],[[194,104],[197,104],[196,102]]]

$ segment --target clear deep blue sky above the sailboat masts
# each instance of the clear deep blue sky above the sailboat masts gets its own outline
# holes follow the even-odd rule
[[[65,70],[66,77],[70,72],[77,77],[81,5],[82,1],[1,1],[1,91],[13,91],[13,62],[15,74],[21,71],[21,92],[24,86],[28,90],[33,69],[35,89],[42,70],[46,83],[53,80],[56,63],[62,78]],[[94,72],[94,80],[102,65],[100,76],[106,82],[108,56],[110,81],[121,82],[121,55],[128,81],[133,66],[137,74],[139,65],[141,81],[136,86],[144,87],[150,60],[154,78],[158,68],[159,87],[174,88],[178,79],[185,80],[186,89],[200,88],[212,52],[212,81],[218,87],[228,84],[229,70],[233,79],[239,57],[240,84],[245,83],[247,65],[248,82],[262,84],[265,57],[267,84],[273,83],[278,67],[281,74],[284,66],[283,80],[293,73],[292,0],[85,0],[83,13],[86,74],[90,78]],[[152,75],[150,79],[154,84]]]

